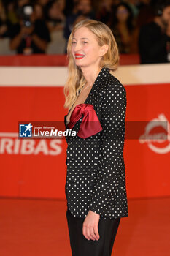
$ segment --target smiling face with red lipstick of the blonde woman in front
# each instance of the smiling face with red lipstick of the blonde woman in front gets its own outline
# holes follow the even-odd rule
[[[72,56],[79,67],[89,67],[97,64],[102,56],[95,34],[90,29],[82,27],[74,32],[72,39]]]

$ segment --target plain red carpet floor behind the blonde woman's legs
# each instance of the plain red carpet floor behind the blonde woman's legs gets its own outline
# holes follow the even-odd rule
[[[128,211],[112,255],[169,256],[170,197],[129,199]],[[66,201],[1,198],[0,255],[71,256]]]

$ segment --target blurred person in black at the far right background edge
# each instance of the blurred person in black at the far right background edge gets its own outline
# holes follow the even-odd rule
[[[170,61],[170,1],[155,6],[155,18],[139,32],[141,64]]]

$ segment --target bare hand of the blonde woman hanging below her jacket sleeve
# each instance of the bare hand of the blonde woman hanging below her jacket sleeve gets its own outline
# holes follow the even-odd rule
[[[94,211],[88,211],[88,215],[85,217],[85,220],[82,225],[82,234],[88,240],[98,240],[100,238],[98,234],[98,222],[100,215],[96,214]]]

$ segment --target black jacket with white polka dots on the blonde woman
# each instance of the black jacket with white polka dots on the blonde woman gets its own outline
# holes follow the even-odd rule
[[[103,128],[88,138],[67,136],[66,200],[74,217],[85,218],[88,211],[104,219],[128,217],[123,158],[125,138],[125,87],[109,69],[99,72],[88,98]],[[78,132],[83,116],[74,124]],[[66,116],[64,116],[66,129]]]

